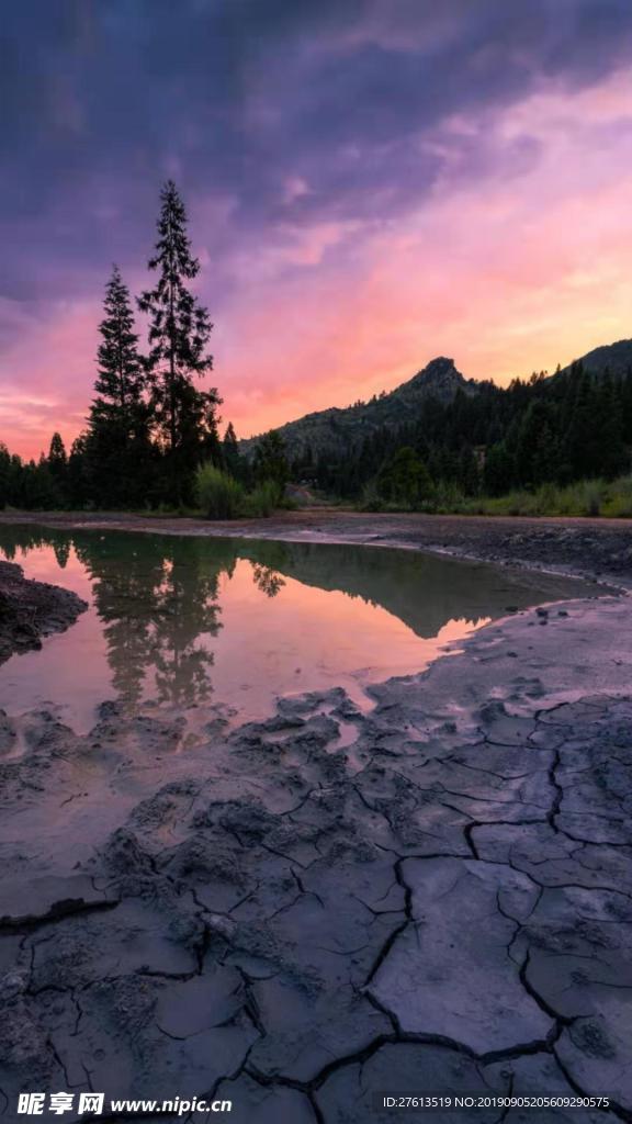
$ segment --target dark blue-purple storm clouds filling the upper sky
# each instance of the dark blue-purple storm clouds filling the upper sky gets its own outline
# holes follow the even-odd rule
[[[632,54],[630,0],[26,0],[3,24],[0,296],[18,300],[143,261],[169,174],[232,200],[220,259],[280,220],[382,219],[446,148],[455,176],[485,174],[497,109]],[[444,135],[454,115],[473,128]],[[529,137],[516,156],[536,158]]]

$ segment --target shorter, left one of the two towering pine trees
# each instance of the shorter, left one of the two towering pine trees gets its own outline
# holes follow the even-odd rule
[[[103,311],[85,445],[92,499],[106,507],[136,506],[145,499],[152,461],[151,410],[129,290],[117,265],[106,285]]]

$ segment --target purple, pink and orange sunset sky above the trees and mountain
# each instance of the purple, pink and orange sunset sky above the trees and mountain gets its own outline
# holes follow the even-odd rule
[[[0,441],[84,426],[168,178],[238,436],[632,336],[631,63],[630,0],[7,6]]]

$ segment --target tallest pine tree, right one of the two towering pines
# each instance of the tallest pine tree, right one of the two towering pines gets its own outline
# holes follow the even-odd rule
[[[213,325],[187,285],[200,269],[191,253],[187,221],[184,205],[170,180],[161,192],[159,238],[148,262],[150,270],[157,271],[157,282],[143,293],[138,307],[150,317],[147,368],[174,502],[187,497],[197,464],[217,447],[216,407],[220,402],[215,388],[200,391],[192,381],[193,375],[213,370],[207,352]]]

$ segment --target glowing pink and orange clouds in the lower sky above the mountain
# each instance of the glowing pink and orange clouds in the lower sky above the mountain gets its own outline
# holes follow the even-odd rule
[[[631,335],[630,84],[619,74],[572,96],[551,88],[486,121],[493,171],[461,175],[457,190],[439,182],[412,215],[282,224],[234,247],[217,311],[210,270],[204,290],[225,419],[246,436],[389,389],[436,354],[504,382]],[[529,166],[513,163],[522,140],[536,153]],[[216,217],[208,203],[196,223],[209,263]],[[37,454],[54,428],[76,435],[99,318],[87,300],[22,326],[0,372],[11,448]]]

